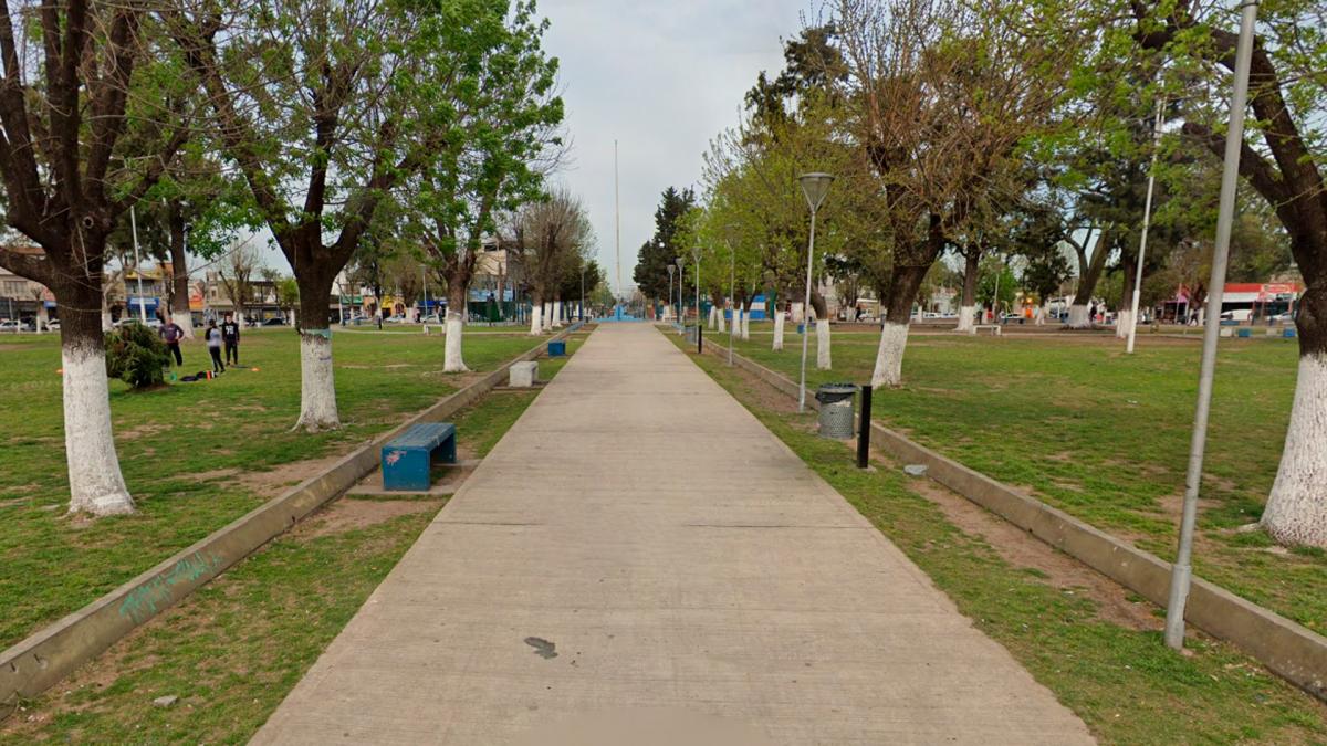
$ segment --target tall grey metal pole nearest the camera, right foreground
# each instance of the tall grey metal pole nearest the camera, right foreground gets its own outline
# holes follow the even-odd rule
[[[1208,445],[1208,415],[1212,411],[1212,380],[1217,368],[1217,340],[1221,332],[1221,301],[1226,287],[1226,264],[1230,259],[1230,222],[1235,210],[1235,187],[1239,179],[1239,149],[1243,146],[1243,114],[1249,101],[1249,64],[1253,58],[1254,21],[1258,0],[1241,5],[1239,45],[1235,52],[1235,88],[1230,96],[1230,127],[1226,130],[1226,157],[1221,170],[1221,199],[1217,212],[1217,244],[1212,254],[1212,288],[1208,295],[1208,317],[1202,329],[1202,369],[1198,374],[1198,406],[1193,414],[1193,439],[1189,443],[1189,471],[1184,483],[1184,514],[1180,518],[1180,550],[1170,567],[1170,597],[1165,609],[1165,644],[1184,648],[1184,607],[1193,580],[1193,524],[1198,518],[1198,487],[1202,485],[1202,455]]]

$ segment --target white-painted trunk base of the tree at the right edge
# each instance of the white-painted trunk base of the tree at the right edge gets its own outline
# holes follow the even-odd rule
[[[1327,354],[1299,358],[1286,447],[1262,526],[1281,544],[1327,548]]]

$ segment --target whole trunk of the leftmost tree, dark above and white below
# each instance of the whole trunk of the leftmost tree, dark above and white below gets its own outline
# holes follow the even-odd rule
[[[69,512],[134,512],[111,434],[106,346],[97,311],[101,289],[77,279],[50,289],[60,305]]]

